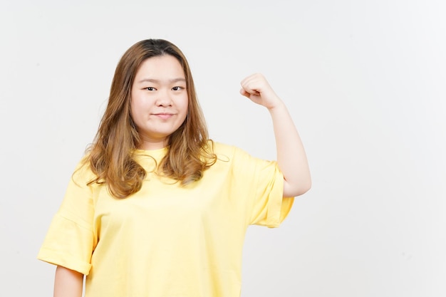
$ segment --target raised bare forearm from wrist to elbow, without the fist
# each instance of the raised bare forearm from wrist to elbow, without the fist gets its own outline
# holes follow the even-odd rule
[[[277,163],[284,174],[284,197],[296,197],[311,187],[311,175],[301,137],[284,103],[269,108],[276,137]]]

